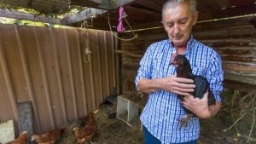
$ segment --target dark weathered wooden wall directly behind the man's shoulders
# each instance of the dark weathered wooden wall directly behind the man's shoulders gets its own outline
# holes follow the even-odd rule
[[[236,21],[234,21],[236,22]],[[206,23],[195,27],[194,37],[218,51],[223,59],[224,80],[234,89],[255,90],[256,85],[256,29],[246,22],[240,26]],[[166,39],[163,28],[137,32],[139,39],[121,42],[121,51],[133,54],[122,55],[122,77],[134,78],[137,75],[139,60],[150,43]],[[125,33],[123,38],[127,38]],[[235,83],[239,83],[236,85]]]

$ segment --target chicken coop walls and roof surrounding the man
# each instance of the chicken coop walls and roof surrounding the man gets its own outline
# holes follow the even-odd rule
[[[0,123],[13,120],[15,137],[23,121],[35,134],[61,129],[124,94],[149,44],[168,38],[165,2],[0,0]],[[223,99],[242,104],[236,118],[249,112],[243,127],[256,141],[256,1],[197,0],[197,9],[193,37],[221,55]]]

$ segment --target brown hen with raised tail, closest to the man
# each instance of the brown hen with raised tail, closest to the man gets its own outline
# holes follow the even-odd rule
[[[96,133],[96,121],[93,117],[93,113],[89,113],[89,121],[84,128],[76,127],[73,130],[79,143],[90,141]]]

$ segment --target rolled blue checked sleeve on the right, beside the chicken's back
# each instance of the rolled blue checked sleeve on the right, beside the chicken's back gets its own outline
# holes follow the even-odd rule
[[[224,72],[221,57],[217,53],[213,53],[211,56],[211,62],[208,67],[207,80],[210,84],[210,89],[216,101],[221,102],[220,93],[223,90]]]

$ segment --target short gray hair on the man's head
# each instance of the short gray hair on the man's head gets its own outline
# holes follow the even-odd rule
[[[189,3],[192,14],[195,14],[197,12],[197,10],[196,10],[196,0],[168,0],[168,1],[166,1],[166,3],[163,6],[162,13],[164,13],[164,10],[166,8],[174,8],[178,4],[181,4],[181,3]]]

